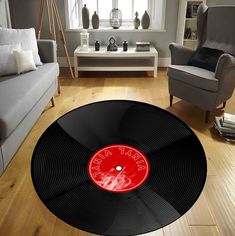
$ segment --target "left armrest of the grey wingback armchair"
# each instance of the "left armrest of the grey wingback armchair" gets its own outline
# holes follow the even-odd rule
[[[170,43],[171,64],[172,65],[187,65],[189,59],[193,56],[195,50],[187,48],[176,43]]]

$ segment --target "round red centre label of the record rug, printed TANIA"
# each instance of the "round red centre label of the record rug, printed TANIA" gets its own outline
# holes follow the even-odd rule
[[[111,192],[136,189],[144,183],[149,171],[144,154],[127,145],[111,145],[98,150],[88,165],[92,181]]]

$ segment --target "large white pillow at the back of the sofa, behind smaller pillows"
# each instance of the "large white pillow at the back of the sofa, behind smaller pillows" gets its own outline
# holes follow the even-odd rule
[[[0,45],[21,44],[22,50],[32,50],[33,59],[37,66],[42,65],[38,55],[38,45],[35,36],[35,29],[7,29],[0,27]]]

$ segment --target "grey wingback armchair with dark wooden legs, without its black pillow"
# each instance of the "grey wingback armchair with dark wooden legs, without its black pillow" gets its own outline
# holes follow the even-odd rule
[[[223,51],[215,71],[188,65],[196,50],[171,43],[168,67],[170,106],[173,97],[181,98],[210,112],[226,105],[235,87],[235,6],[207,7],[201,4],[197,15],[198,47]]]

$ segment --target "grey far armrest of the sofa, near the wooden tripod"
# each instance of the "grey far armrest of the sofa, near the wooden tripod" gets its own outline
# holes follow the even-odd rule
[[[38,43],[38,52],[43,63],[57,62],[56,41],[49,39],[40,39]]]

